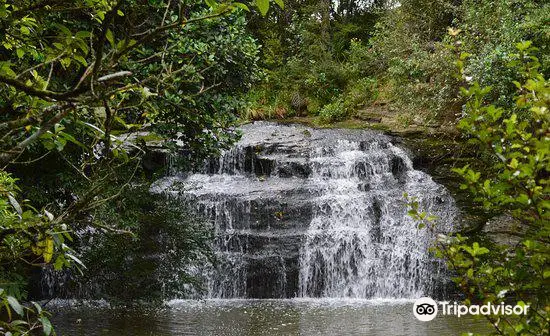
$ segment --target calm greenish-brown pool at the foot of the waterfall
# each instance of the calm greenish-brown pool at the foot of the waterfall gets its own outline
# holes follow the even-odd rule
[[[461,335],[488,333],[483,318],[421,322],[403,300],[171,301],[163,309],[65,304],[53,309],[58,335]]]

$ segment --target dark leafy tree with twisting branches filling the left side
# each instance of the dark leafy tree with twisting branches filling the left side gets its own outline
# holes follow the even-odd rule
[[[242,10],[249,8],[234,1],[206,3],[0,4],[0,314],[8,314],[3,331],[51,332],[39,307],[19,304],[25,297],[21,284],[30,267],[84,267],[69,247],[73,225],[120,197],[141,172],[145,140],[135,141],[130,133],[146,130],[164,146],[177,145],[189,161],[237,138],[227,129],[239,99],[228,92],[244,92],[254,77],[257,46],[242,35]],[[254,4],[266,14],[268,0]],[[33,167],[49,169],[59,181],[67,182],[66,175],[79,180],[57,182],[61,198],[44,195],[51,190],[33,194],[18,186],[29,181],[17,179]],[[24,176],[44,182],[32,171]],[[26,200],[28,195],[36,198]]]

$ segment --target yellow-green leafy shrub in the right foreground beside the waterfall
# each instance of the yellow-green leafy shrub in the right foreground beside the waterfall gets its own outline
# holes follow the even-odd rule
[[[550,86],[531,42],[516,45],[509,66],[518,73],[515,108],[490,99],[490,87],[474,82],[463,94],[466,115],[458,127],[487,157],[485,169],[457,168],[461,186],[492,214],[509,214],[513,244],[480,237],[440,235],[436,255],[446,259],[466,304],[508,301],[529,305],[527,315],[487,316],[500,335],[548,335],[550,330]],[[458,63],[463,71],[463,62]],[[498,100],[498,99],[497,99]],[[521,116],[520,114],[521,113]],[[436,230],[433,217],[411,203],[420,226]]]

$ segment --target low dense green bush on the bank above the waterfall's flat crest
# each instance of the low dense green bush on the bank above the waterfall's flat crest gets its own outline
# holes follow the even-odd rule
[[[317,52],[308,49],[290,58],[283,67],[268,72],[266,81],[249,96],[253,102],[249,118],[297,115],[301,111],[293,107],[292,100],[299,96],[306,100],[309,115],[323,115],[323,122],[327,122],[327,111],[334,111],[335,106],[345,104],[346,109],[353,111],[376,98],[377,81],[367,77],[367,46],[352,40],[343,61],[336,60],[322,46],[317,47],[313,48]],[[337,114],[338,120],[346,115]]]

